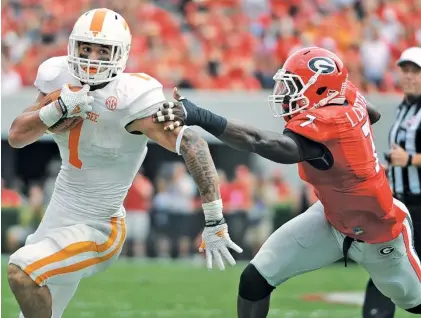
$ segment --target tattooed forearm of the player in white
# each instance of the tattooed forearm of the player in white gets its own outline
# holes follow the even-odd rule
[[[208,144],[196,132],[187,129],[183,134],[180,153],[199,188],[202,202],[220,199],[218,173]]]

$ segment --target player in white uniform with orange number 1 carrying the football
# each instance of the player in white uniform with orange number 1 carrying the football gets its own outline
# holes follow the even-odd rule
[[[37,231],[9,260],[8,280],[20,317],[60,318],[81,278],[118,257],[126,233],[122,203],[149,138],[182,155],[197,183],[207,266],[214,259],[223,269],[222,257],[233,265],[228,248],[241,252],[228,235],[207,143],[190,129],[166,132],[152,122],[165,101],[162,85],[143,73],[123,73],[130,44],[129,27],[118,13],[94,9],[83,14],[70,35],[68,56],[40,65],[37,103],[10,128],[10,145],[21,148],[61,119],[83,119],[53,134],[62,158],[53,196]],[[83,89],[73,92],[69,84]],[[38,110],[43,97],[58,89],[58,101]]]

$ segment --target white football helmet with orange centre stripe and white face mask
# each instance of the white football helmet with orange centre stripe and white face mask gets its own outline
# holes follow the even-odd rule
[[[110,60],[79,57],[82,42],[110,46]],[[131,42],[129,26],[120,14],[105,8],[84,13],[76,21],[69,37],[67,60],[70,74],[89,85],[114,80],[126,68]]]

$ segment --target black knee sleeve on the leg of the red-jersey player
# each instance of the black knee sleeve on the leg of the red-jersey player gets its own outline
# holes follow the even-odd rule
[[[253,264],[248,264],[240,277],[238,295],[250,301],[259,301],[269,296],[274,289]]]

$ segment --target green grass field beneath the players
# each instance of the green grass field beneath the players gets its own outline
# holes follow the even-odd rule
[[[6,281],[5,263],[3,258],[1,317],[17,318],[18,307]],[[236,317],[237,282],[244,266],[209,272],[193,261],[120,260],[106,272],[81,282],[63,318]],[[359,305],[310,302],[303,297],[356,292],[359,300],[366,281],[367,274],[360,267],[339,264],[293,278],[274,292],[269,317],[361,317]],[[413,316],[398,310],[396,317]]]

